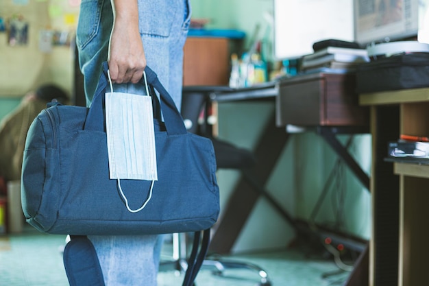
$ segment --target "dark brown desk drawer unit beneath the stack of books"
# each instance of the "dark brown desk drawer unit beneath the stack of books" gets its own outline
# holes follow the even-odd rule
[[[365,126],[368,109],[358,105],[354,74],[315,73],[280,82],[277,125]]]

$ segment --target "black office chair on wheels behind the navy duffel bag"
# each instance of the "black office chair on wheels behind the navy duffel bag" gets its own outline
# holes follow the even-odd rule
[[[218,169],[243,169],[256,163],[254,155],[248,150],[236,147],[231,143],[219,140],[212,136],[208,110],[210,108],[210,93],[231,91],[226,86],[185,86],[182,93],[182,117],[188,132],[206,136],[212,140]],[[203,120],[201,120],[203,119]],[[173,235],[173,263],[175,270],[186,270],[186,234]],[[161,265],[165,263],[161,263]],[[225,276],[225,270],[246,269],[258,275],[259,286],[270,286],[271,281],[267,272],[258,265],[221,259],[210,255],[204,260],[204,268],[212,268],[213,274]],[[202,268],[201,268],[202,269]]]

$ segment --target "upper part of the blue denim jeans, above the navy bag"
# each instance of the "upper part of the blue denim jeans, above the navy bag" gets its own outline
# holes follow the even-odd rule
[[[157,73],[180,110],[182,98],[183,46],[191,22],[190,0],[136,0],[140,34],[147,65]],[[108,59],[113,25],[110,0],[82,0],[77,25],[79,64],[84,74],[87,105],[97,88],[101,63]],[[138,93],[134,84],[121,84],[118,92]]]

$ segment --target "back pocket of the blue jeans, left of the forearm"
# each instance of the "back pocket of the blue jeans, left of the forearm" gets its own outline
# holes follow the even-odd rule
[[[104,1],[108,0],[82,0],[76,30],[76,43],[80,49],[97,36]]]

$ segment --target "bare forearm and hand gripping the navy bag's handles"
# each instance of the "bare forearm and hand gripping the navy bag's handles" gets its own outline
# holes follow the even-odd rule
[[[146,67],[145,51],[138,31],[136,0],[114,0],[114,24],[108,65],[112,82],[137,83]]]

